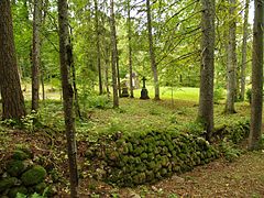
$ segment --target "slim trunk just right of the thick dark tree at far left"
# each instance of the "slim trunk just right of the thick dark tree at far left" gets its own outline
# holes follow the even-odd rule
[[[33,13],[33,52],[32,52],[32,111],[38,109],[40,64],[41,64],[41,1],[34,0]]]

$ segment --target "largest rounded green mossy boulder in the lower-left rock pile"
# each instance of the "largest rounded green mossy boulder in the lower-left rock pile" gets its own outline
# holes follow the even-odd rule
[[[33,166],[22,174],[21,180],[25,186],[33,186],[42,183],[46,177],[46,170],[42,166]]]

